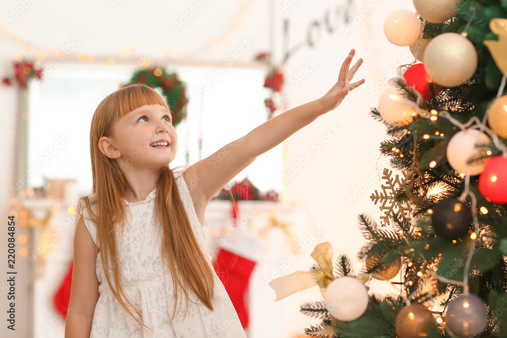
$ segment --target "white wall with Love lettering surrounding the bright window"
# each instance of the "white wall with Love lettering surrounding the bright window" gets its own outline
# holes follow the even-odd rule
[[[356,226],[357,215],[366,212],[374,217],[380,215],[378,206],[373,205],[369,195],[377,189],[378,180],[370,183],[372,174],[376,174],[374,160],[378,158],[379,142],[385,139],[383,126],[369,117],[372,106],[377,105],[378,83],[380,92],[387,85],[382,84],[387,74],[395,71],[396,67],[413,61],[408,48],[390,45],[383,35],[382,25],[385,16],[397,8],[403,7],[413,10],[412,3],[400,5],[394,0],[360,0],[353,1],[348,7],[349,0],[257,0],[237,2],[234,0],[206,1],[197,0],[179,2],[140,2],[134,0],[87,2],[68,2],[63,0],[33,1],[29,6],[21,9],[19,0],[6,0],[0,7],[0,18],[12,17],[13,22],[8,29],[15,37],[22,36],[35,52],[45,50],[49,58],[48,47],[65,49],[73,44],[75,50],[66,56],[68,62],[79,53],[92,54],[96,60],[106,58],[121,59],[122,48],[135,45],[137,52],[131,58],[140,55],[152,59],[168,59],[168,50],[173,49],[175,60],[181,62],[212,62],[221,65],[226,62],[228,54],[241,47],[244,40],[250,39],[251,47],[235,63],[240,65],[248,62],[257,53],[273,48],[275,62],[281,62],[286,40],[283,37],[283,22],[289,20],[289,40],[287,47],[301,47],[294,51],[283,66],[287,84],[291,93],[285,96],[284,109],[314,100],[327,92],[338,78],[340,65],[351,48],[357,50],[357,56],[365,59],[365,64],[357,73],[356,79],[366,79],[366,84],[349,94],[349,97],[335,110],[319,117],[311,125],[298,131],[286,141],[287,168],[294,167],[298,158],[312,153],[312,158],[302,166],[302,169],[287,180],[287,200],[304,199],[305,203],[315,213],[317,224],[325,231],[320,241],[330,241],[335,254],[347,253],[355,260],[357,250],[363,245]],[[119,3],[110,7],[111,3]],[[182,28],[175,31],[173,21],[179,20],[182,13],[189,10],[189,6],[203,4]],[[281,7],[278,7],[281,6]],[[367,7],[371,6],[371,7]],[[17,12],[23,12],[16,17]],[[284,10],[282,10],[284,9]],[[350,31],[343,31],[346,9],[350,14]],[[330,22],[335,27],[334,32],[324,28],[324,15],[330,11]],[[238,21],[241,18],[241,21]],[[354,21],[355,20],[355,21]],[[307,29],[312,22],[319,22],[320,30],[315,29],[313,47],[306,43]],[[241,23],[241,29],[236,31],[235,24]],[[314,25],[317,27],[317,24]],[[5,27],[5,26],[4,26]],[[274,39],[270,30],[274,32]],[[320,33],[319,33],[320,32]],[[227,33],[228,42],[225,42]],[[81,37],[81,41],[76,39]],[[0,77],[11,76],[12,61],[18,54],[23,53],[24,46],[18,46],[15,37],[0,36]],[[218,45],[215,38],[220,39]],[[171,54],[172,55],[172,54]],[[408,56],[404,59],[404,56]],[[181,57],[185,57],[182,59]],[[400,61],[401,60],[401,61]],[[300,73],[308,61],[316,62],[311,71],[301,81],[290,82],[291,78]],[[51,68],[52,69],[52,68]],[[307,68],[310,69],[310,68]],[[303,76],[304,73],[301,73]],[[9,190],[9,185],[15,182],[14,161],[16,154],[15,138],[10,137],[9,131],[16,130],[16,90],[12,87],[0,87],[0,101],[3,109],[0,112],[0,135],[2,137],[2,157],[0,164],[0,208],[5,216],[11,211],[8,201],[16,197]],[[368,99],[365,93],[373,94]],[[326,142],[325,135],[331,126],[340,131],[329,142],[317,151],[312,147],[318,140]],[[381,170],[381,169],[380,169]],[[354,189],[360,189],[365,184],[367,189],[357,199],[349,203],[347,196],[352,195]],[[362,188],[361,188],[362,189]],[[19,227],[19,226],[18,226]],[[25,229],[26,230],[26,229]],[[19,229],[22,233],[23,229]],[[7,232],[0,232],[0,243],[4,243],[2,251],[6,252]],[[317,242],[313,243],[298,261],[287,271],[308,270],[313,264],[310,253]],[[18,243],[18,248],[21,244]],[[6,257],[6,255],[4,255]],[[29,318],[26,315],[26,288],[29,286],[29,273],[26,271],[26,258],[17,256],[19,284],[17,284],[17,316],[15,332],[6,330],[2,325],[0,335],[26,337],[31,334]],[[4,258],[6,261],[6,258]],[[4,270],[5,271],[5,270]],[[5,273],[2,273],[5,276]],[[5,314],[7,309],[6,278],[0,282],[0,311]],[[24,283],[24,284],[23,284]],[[377,283],[379,290],[382,283]],[[372,283],[372,286],[375,286]],[[384,287],[385,290],[390,290]],[[273,295],[274,299],[274,295]],[[312,320],[299,312],[303,302],[320,299],[317,288],[309,289],[284,299],[287,322],[287,337],[300,332]]]

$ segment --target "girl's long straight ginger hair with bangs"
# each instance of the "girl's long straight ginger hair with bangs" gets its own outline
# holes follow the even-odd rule
[[[160,104],[169,109],[161,95],[152,88],[141,84],[127,85],[108,95],[98,105],[90,129],[90,155],[93,193],[96,194],[96,213],[92,211],[90,196],[83,197],[80,201],[84,201],[90,220],[96,224],[97,254],[99,251],[102,253],[102,266],[113,295],[128,315],[133,317],[138,324],[148,327],[142,321],[139,308],[133,306],[119,282],[121,273],[115,235],[116,227],[119,224],[121,224],[123,231],[126,220],[126,203],[123,197],[128,182],[118,162],[105,156],[98,148],[99,139],[102,136],[111,136],[115,124],[121,117],[144,104]],[[83,207],[78,208],[78,215],[82,215]],[[205,258],[192,231],[185,206],[179,197],[173,172],[168,165],[160,169],[157,178],[155,216],[162,230],[162,261],[163,264],[165,261],[165,266],[170,269],[175,287],[174,312],[171,321],[176,314],[178,287],[181,287],[185,292],[187,309],[188,288],[190,287],[202,304],[213,311],[211,303],[214,288],[212,267]],[[113,265],[113,281],[109,274],[108,255],[111,255]],[[130,308],[134,309],[142,322],[135,317]],[[186,315],[187,312],[185,312]]]

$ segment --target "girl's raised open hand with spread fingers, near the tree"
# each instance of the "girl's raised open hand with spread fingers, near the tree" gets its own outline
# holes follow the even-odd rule
[[[329,90],[329,92],[320,98],[325,112],[335,109],[340,103],[342,103],[345,96],[347,96],[351,90],[365,83],[365,79],[361,79],[352,84],[350,83],[350,80],[352,80],[354,77],[357,69],[359,69],[361,64],[363,64],[363,59],[359,59],[357,60],[356,64],[354,64],[354,66],[349,69],[354,54],[355,50],[352,49],[345,61],[343,61],[342,67],[340,69],[340,74],[338,76],[338,82],[333,86],[333,88]]]

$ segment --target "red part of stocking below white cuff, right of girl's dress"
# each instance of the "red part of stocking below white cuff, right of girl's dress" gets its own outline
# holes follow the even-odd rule
[[[243,328],[248,326],[248,282],[256,262],[220,248],[213,268],[225,286]]]

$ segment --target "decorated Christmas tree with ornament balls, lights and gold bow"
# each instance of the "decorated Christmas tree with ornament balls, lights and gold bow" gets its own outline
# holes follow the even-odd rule
[[[400,174],[384,170],[371,195],[380,224],[358,217],[363,270],[346,255],[333,266],[326,242],[308,272],[270,283],[277,300],[319,285],[323,301],[301,306],[319,320],[309,336],[507,337],[507,1],[414,6],[384,23],[416,61],[370,112],[387,127],[380,150]],[[368,294],[372,278],[401,295]]]

